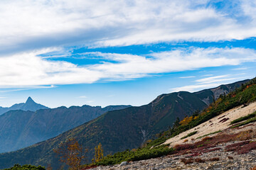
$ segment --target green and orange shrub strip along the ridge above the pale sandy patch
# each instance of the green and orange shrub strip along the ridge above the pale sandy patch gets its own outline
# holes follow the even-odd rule
[[[246,84],[242,84],[242,86],[235,89],[235,91],[231,91],[229,94],[220,95],[214,103],[211,103],[210,106],[204,109],[200,114],[184,118],[180,123],[174,125],[173,128],[163,132],[161,137],[154,140],[149,145],[152,145],[152,143],[160,144],[165,142],[169,137],[174,137],[181,132],[190,130],[231,108],[241,105],[247,106],[248,103],[253,101],[256,101],[256,78],[248,81]]]

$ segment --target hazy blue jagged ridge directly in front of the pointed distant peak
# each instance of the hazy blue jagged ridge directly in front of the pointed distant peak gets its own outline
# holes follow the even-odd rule
[[[129,106],[72,106],[36,112],[9,111],[0,115],[0,152],[10,152],[48,140],[107,111],[127,107]]]

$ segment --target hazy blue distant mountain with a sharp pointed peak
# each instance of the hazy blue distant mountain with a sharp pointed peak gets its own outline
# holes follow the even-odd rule
[[[14,111],[14,110],[37,111],[39,109],[46,109],[46,108],[48,108],[48,107],[38,104],[35,101],[33,101],[33,99],[31,97],[28,97],[26,103],[14,104],[10,108],[0,107],[0,115],[3,113],[6,113],[8,111]]]

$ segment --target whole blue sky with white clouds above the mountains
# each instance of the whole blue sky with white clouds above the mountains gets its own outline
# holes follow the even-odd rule
[[[256,1],[2,0],[0,106],[142,106],[256,77]]]

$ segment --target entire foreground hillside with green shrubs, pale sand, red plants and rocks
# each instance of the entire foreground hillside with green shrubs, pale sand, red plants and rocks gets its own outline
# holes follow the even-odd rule
[[[120,166],[122,169],[250,169],[255,166],[256,153],[255,101],[256,78],[220,96],[201,113],[175,123],[142,148],[113,154],[92,166],[110,165],[101,169],[120,169]],[[169,155],[163,157],[166,154]],[[161,158],[150,159],[154,157]],[[149,160],[134,162],[143,159]]]

